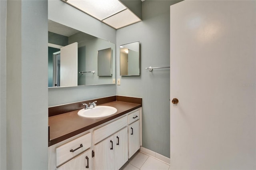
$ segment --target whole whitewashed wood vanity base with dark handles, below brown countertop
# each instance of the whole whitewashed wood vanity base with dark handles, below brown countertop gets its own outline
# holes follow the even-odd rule
[[[118,170],[141,144],[141,108],[48,147],[48,169]]]

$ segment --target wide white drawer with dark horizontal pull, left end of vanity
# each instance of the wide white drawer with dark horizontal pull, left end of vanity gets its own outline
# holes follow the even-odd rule
[[[87,133],[56,148],[56,165],[59,166],[63,162],[90,148],[91,136],[91,133]]]

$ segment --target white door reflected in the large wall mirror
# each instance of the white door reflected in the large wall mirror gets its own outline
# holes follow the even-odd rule
[[[60,48],[60,86],[77,86],[78,43]]]

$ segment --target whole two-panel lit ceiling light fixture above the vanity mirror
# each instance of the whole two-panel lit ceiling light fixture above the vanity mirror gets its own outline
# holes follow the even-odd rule
[[[136,22],[140,22],[119,0],[62,0],[82,12],[119,29]]]

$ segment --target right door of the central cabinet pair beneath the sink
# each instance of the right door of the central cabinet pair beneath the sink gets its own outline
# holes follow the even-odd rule
[[[114,157],[115,157],[115,168],[119,170],[128,161],[128,128],[114,134]]]

